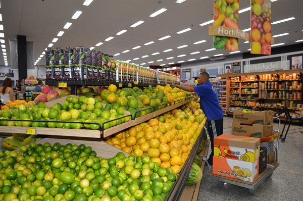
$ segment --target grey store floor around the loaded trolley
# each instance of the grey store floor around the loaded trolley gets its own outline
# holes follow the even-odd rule
[[[231,117],[224,117],[224,134],[231,133]],[[283,129],[281,124],[280,130]],[[277,129],[275,123],[274,129]],[[255,195],[248,189],[225,184],[203,177],[198,200],[302,200],[303,185],[303,126],[291,125],[284,143],[279,143],[280,166],[271,178],[266,178],[258,187]],[[276,140],[275,140],[276,144]],[[212,171],[212,170],[211,170]],[[204,174],[209,172],[207,166]]]

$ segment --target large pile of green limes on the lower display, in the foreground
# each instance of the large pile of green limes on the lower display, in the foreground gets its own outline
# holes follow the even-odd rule
[[[97,157],[90,146],[55,143],[0,151],[0,200],[162,200],[177,175],[150,157]]]

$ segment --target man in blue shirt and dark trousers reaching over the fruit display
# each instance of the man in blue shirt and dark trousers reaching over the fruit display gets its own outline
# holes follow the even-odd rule
[[[213,165],[214,156],[214,138],[223,134],[223,110],[219,104],[217,91],[213,84],[209,81],[210,75],[202,72],[198,77],[198,86],[175,85],[185,91],[196,92],[200,97],[200,108],[207,117],[207,129],[211,139],[212,153],[208,159],[208,163]]]

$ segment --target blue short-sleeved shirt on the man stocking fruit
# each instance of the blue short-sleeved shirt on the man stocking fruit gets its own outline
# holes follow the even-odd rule
[[[200,96],[200,108],[207,116],[207,120],[223,119],[223,110],[219,104],[217,91],[213,84],[208,80],[205,84],[193,87]]]

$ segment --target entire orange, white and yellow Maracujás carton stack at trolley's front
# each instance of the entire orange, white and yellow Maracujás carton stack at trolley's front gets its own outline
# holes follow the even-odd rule
[[[213,174],[254,181],[259,174],[261,138],[222,134],[214,138]]]

